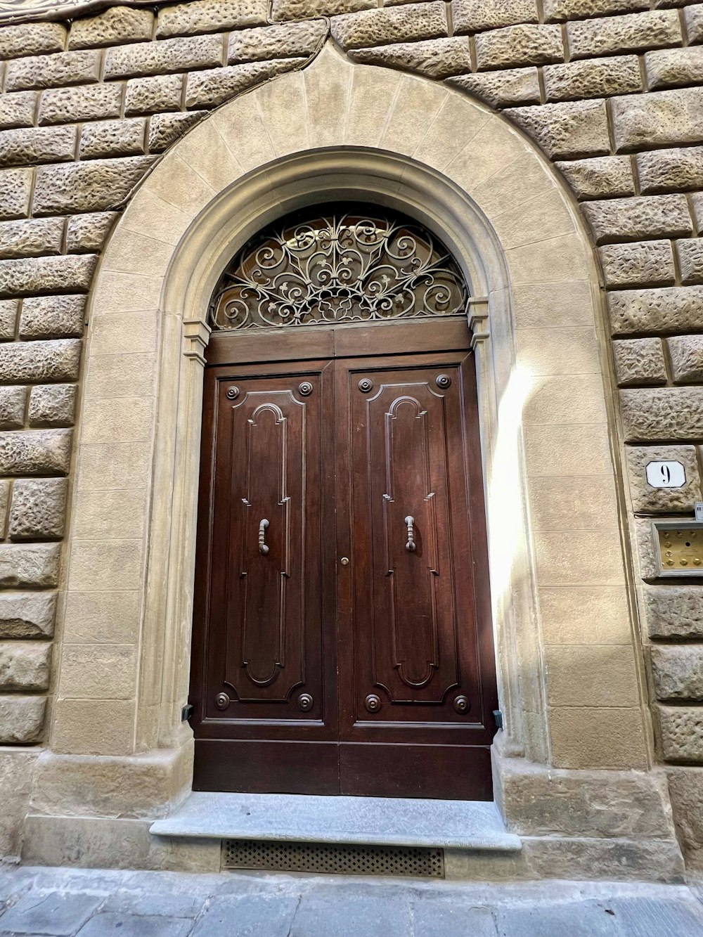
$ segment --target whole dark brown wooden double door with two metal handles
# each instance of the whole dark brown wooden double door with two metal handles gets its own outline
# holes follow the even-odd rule
[[[211,342],[196,790],[492,796],[467,348],[463,322]]]

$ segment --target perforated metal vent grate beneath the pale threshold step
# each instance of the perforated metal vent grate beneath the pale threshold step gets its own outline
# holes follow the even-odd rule
[[[222,866],[279,872],[443,878],[444,852],[414,846],[222,840]]]

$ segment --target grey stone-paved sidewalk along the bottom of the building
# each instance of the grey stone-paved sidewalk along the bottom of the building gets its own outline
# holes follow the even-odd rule
[[[703,937],[685,886],[0,870],[0,937]]]

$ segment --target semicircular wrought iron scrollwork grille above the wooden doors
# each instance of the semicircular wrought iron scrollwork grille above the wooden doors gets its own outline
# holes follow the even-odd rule
[[[449,251],[410,218],[349,205],[278,221],[221,276],[214,329],[279,328],[465,316]]]

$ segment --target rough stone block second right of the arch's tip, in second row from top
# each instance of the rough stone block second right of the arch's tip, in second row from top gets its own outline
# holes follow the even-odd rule
[[[521,65],[560,62],[564,56],[559,26],[526,23],[505,26],[475,39],[476,62],[480,71]]]

